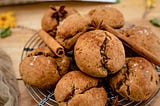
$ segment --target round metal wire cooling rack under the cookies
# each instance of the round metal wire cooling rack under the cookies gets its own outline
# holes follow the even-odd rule
[[[44,42],[40,39],[37,33],[35,33],[25,44],[21,60],[26,56],[29,51],[34,50],[35,48],[45,45]],[[160,72],[160,67],[156,67],[157,71]],[[38,106],[58,106],[57,102],[54,98],[54,89],[52,90],[41,90],[39,88],[32,87],[28,84],[25,84],[27,91],[32,96],[32,98],[37,102]],[[105,85],[105,89],[108,93],[108,103],[106,106],[110,106],[112,102],[117,97],[116,94],[113,93],[112,89],[109,85]],[[146,101],[143,102],[134,102],[126,100],[124,97],[118,95],[118,106],[147,106],[151,103],[151,101],[155,98],[158,94],[159,89]]]

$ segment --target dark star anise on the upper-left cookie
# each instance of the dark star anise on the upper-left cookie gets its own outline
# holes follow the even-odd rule
[[[55,6],[50,6],[50,8],[55,11],[51,17],[56,18],[58,22],[67,14],[65,6],[60,6],[59,9],[56,9]]]

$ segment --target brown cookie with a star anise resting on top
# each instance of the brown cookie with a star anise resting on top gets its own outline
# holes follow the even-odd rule
[[[62,21],[67,16],[77,13],[73,8],[60,6],[56,8],[54,6],[50,6],[50,8],[43,15],[41,20],[42,29],[48,32],[51,35],[55,36],[57,26],[60,21]]]

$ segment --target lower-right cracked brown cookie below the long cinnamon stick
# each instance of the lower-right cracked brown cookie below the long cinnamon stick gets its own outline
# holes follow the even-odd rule
[[[111,87],[121,96],[133,101],[144,101],[159,88],[155,67],[142,57],[126,58],[123,68],[109,78]]]

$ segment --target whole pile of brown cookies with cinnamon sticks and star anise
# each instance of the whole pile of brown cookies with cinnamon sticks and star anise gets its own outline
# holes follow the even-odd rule
[[[39,31],[47,46],[22,60],[22,79],[54,89],[60,106],[105,106],[104,83],[126,99],[147,100],[159,89],[154,64],[160,66],[160,39],[143,26],[124,25],[123,14],[112,7],[82,15],[50,6]]]

